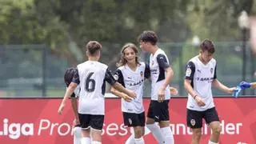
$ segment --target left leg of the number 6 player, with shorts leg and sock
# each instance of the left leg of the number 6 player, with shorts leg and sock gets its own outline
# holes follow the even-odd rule
[[[81,144],[90,144],[90,114],[78,114],[81,126]]]

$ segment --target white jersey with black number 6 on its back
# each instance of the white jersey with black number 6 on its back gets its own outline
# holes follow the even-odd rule
[[[113,85],[116,81],[108,66],[101,62],[86,61],[78,65],[78,72],[72,82],[79,84],[79,114],[105,114],[104,94],[106,82]]]

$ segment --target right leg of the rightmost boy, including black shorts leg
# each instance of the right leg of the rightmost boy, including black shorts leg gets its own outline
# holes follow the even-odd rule
[[[217,110],[211,108],[206,110],[204,118],[206,119],[206,123],[209,124],[212,134],[210,135],[209,144],[217,144],[220,133],[222,131],[222,127],[220,126],[219,118]]]

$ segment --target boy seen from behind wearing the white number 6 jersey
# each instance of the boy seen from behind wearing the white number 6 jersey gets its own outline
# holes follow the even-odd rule
[[[66,90],[62,101],[65,106],[66,99],[73,94],[74,89],[80,86],[78,116],[82,127],[81,143],[90,143],[90,133],[92,144],[102,143],[102,126],[105,114],[104,94],[106,82],[114,86],[115,89],[134,98],[136,94],[131,90],[126,90],[119,82],[114,80],[108,66],[98,62],[102,46],[96,41],[86,44],[86,55],[88,61],[78,65],[78,70]]]

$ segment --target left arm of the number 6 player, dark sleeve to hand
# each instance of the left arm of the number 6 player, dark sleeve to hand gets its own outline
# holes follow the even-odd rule
[[[79,83],[80,81],[79,81],[78,70],[76,70],[74,74],[74,78],[72,79],[72,82],[70,82],[70,85],[67,87],[64,98],[62,99],[62,103],[58,108],[58,114],[62,114],[62,111],[66,106],[67,99],[70,98],[70,96],[74,93],[74,89],[78,86]]]

